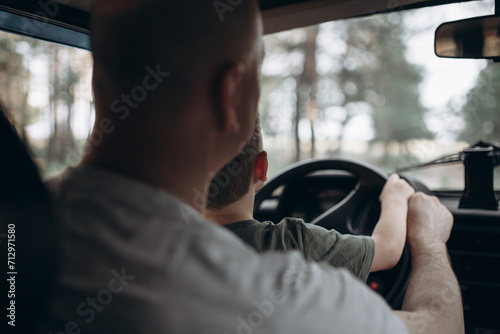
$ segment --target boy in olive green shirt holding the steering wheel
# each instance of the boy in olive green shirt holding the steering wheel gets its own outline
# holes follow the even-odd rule
[[[233,231],[258,252],[299,250],[306,260],[347,268],[362,281],[370,272],[391,269],[398,263],[406,240],[408,199],[414,193],[398,175],[391,175],[382,190],[381,215],[372,236],[354,236],[299,218],[285,218],[278,224],[254,220],[254,196],[267,180],[267,165],[257,124],[240,155],[221,170],[238,166],[238,173],[229,176],[225,187],[212,181],[210,187],[217,191],[209,192],[213,195],[208,196],[205,217]]]

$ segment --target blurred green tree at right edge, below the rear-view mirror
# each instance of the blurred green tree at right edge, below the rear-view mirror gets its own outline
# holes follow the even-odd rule
[[[464,126],[458,139],[473,144],[479,140],[500,143],[500,67],[489,62],[479,73],[458,112]]]

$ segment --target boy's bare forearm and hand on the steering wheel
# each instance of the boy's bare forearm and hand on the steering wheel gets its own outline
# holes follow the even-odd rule
[[[401,258],[406,240],[408,199],[415,190],[393,174],[380,195],[380,219],[373,230],[375,256],[371,272],[393,268]]]

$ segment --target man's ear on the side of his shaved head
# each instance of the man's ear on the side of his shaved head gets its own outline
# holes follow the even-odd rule
[[[221,74],[217,87],[219,106],[221,110],[220,120],[224,130],[232,133],[240,131],[238,120],[238,106],[242,92],[242,79],[245,73],[245,65],[234,63],[227,66]]]

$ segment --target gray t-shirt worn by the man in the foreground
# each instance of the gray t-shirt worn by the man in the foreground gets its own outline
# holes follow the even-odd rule
[[[45,333],[407,333],[347,270],[259,255],[160,189],[92,168],[49,185],[60,272]]]

